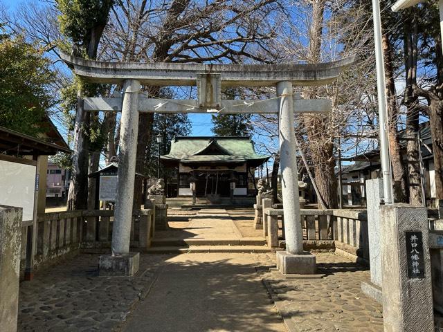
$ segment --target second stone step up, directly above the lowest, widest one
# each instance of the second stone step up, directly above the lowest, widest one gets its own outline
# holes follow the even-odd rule
[[[186,247],[186,246],[266,246],[261,237],[245,237],[242,239],[153,239],[152,247]]]

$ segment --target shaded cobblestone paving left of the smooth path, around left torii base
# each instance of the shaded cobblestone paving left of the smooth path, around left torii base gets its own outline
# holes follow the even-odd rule
[[[98,255],[81,254],[20,284],[18,331],[112,331],[147,293],[166,255],[141,255],[133,278],[98,277]]]

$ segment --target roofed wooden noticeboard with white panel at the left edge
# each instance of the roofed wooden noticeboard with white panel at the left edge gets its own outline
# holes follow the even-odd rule
[[[71,153],[51,120],[41,125],[47,130],[40,138],[0,127],[0,205],[22,208],[20,275],[27,280],[42,248],[32,243],[42,235],[37,214],[44,214],[46,207],[48,156]]]

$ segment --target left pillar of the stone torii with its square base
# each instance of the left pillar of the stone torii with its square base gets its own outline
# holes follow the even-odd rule
[[[112,228],[111,255],[100,256],[99,275],[134,275],[138,271],[140,254],[129,252],[132,205],[136,175],[138,133],[138,80],[125,80],[120,124],[120,154],[118,156],[118,184],[116,210]]]

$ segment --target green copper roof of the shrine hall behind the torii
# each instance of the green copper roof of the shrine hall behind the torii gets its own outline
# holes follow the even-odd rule
[[[169,154],[163,160],[180,160],[182,163],[246,162],[262,160],[269,156],[255,153],[248,137],[177,137],[171,142]]]

